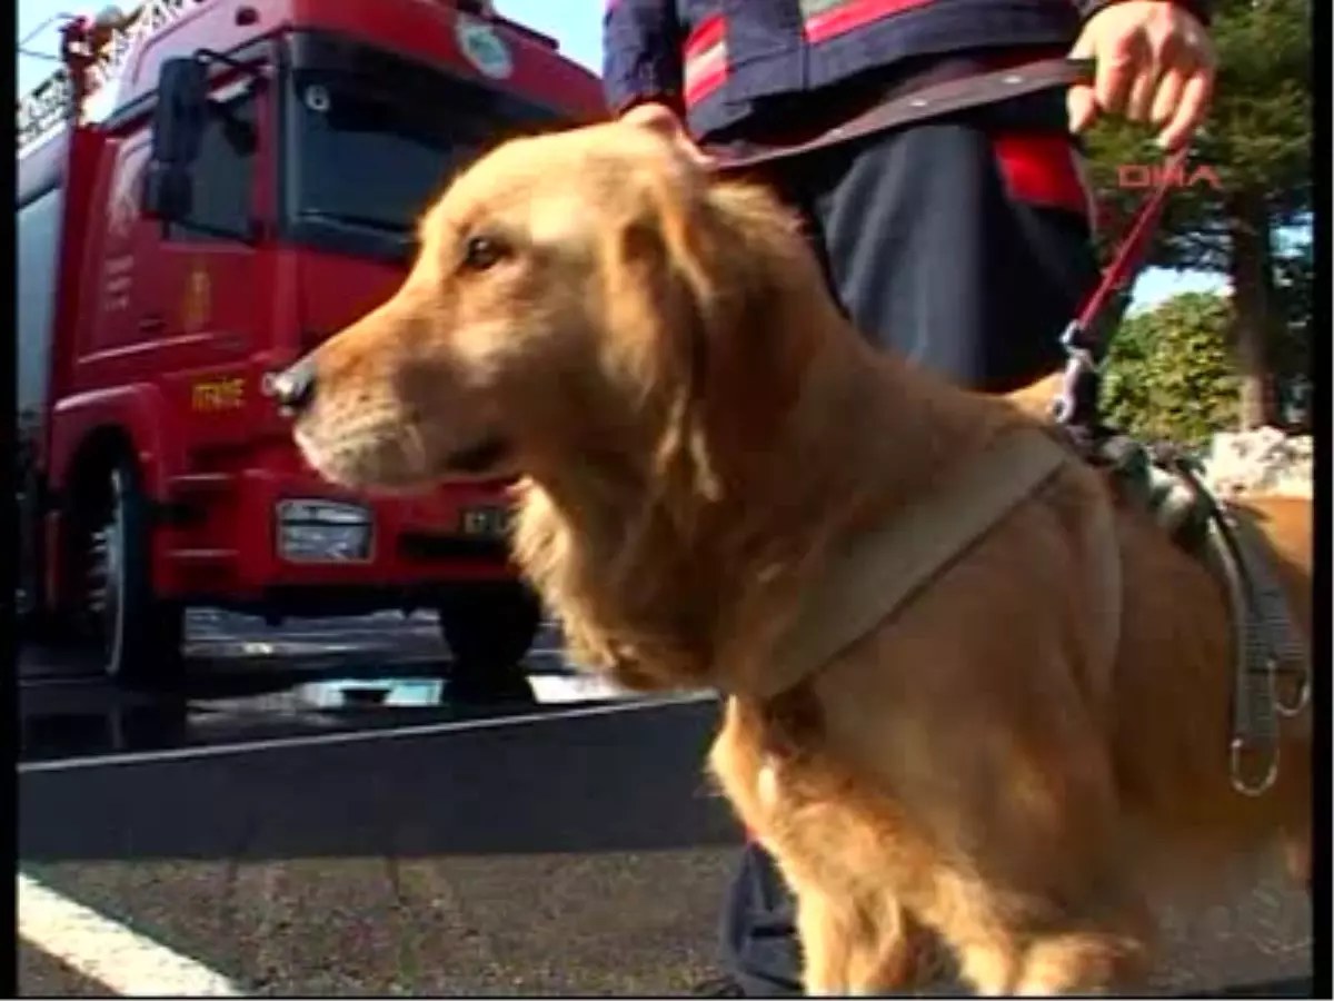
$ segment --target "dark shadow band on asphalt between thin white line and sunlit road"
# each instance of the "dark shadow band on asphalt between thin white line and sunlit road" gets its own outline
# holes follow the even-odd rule
[[[708,701],[552,714],[24,771],[19,856],[247,861],[726,845],[738,841],[736,825],[703,778],[716,711]]]

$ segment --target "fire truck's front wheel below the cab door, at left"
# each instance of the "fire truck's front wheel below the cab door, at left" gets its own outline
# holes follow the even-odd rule
[[[175,681],[183,669],[184,609],[152,590],[148,498],[128,460],[109,474],[88,534],[88,610],[103,670],[127,686]]]

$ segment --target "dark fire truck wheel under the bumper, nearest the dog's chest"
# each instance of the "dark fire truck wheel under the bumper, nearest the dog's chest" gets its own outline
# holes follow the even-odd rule
[[[450,694],[532,701],[523,658],[542,626],[542,603],[518,581],[451,591],[439,605],[440,630],[454,658]]]

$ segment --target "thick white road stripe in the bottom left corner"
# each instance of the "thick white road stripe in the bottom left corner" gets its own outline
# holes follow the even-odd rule
[[[128,997],[243,997],[200,962],[19,873],[19,937]]]

